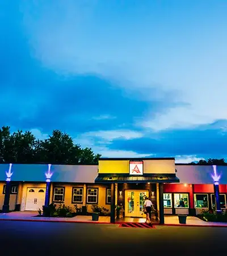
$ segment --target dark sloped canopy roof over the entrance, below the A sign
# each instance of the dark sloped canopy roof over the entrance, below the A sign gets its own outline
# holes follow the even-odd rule
[[[95,183],[179,183],[180,180],[175,174],[99,174]]]

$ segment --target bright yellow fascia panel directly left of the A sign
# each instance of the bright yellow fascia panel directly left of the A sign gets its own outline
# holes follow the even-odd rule
[[[99,160],[99,174],[127,174],[129,160]]]

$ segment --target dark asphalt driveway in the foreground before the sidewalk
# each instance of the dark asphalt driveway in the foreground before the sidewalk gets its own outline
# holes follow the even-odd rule
[[[218,255],[227,228],[0,221],[1,255]]]

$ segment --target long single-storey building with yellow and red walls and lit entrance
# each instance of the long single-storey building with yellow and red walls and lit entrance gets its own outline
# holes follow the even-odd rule
[[[157,210],[154,220],[164,224],[165,214],[196,216],[203,209],[226,209],[226,193],[227,166],[176,164],[174,158],[102,158],[98,165],[76,166],[0,164],[3,213],[37,213],[50,203],[73,209],[77,204],[91,212],[91,205],[98,204],[110,210],[115,222],[115,205],[120,205],[122,221],[141,222],[148,196]]]

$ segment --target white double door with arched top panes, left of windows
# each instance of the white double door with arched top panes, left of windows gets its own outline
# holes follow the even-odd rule
[[[28,188],[26,210],[39,210],[45,203],[45,188]]]

